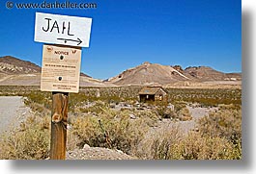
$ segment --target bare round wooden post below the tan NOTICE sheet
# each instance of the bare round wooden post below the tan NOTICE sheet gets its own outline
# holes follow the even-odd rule
[[[50,160],[66,159],[68,92],[52,92]]]

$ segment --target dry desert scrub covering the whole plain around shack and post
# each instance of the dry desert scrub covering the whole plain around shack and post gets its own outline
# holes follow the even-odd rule
[[[140,87],[82,87],[69,98],[68,150],[85,144],[119,149],[139,159],[242,159],[241,89],[169,88],[169,102],[141,104]],[[0,138],[0,159],[46,159],[49,151],[50,92],[37,87],[0,87],[1,95],[21,95],[35,115]],[[168,107],[174,105],[174,110]],[[183,134],[161,120],[189,121],[187,106],[216,107],[196,131]],[[99,120],[102,127],[100,126]],[[106,133],[109,137],[106,140]]]

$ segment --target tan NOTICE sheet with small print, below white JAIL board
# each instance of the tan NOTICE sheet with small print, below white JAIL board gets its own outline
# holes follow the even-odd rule
[[[78,92],[81,49],[43,45],[42,91]]]

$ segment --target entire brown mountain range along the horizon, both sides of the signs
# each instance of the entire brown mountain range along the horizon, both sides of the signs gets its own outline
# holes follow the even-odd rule
[[[144,62],[127,69],[116,77],[97,80],[80,74],[80,86],[170,86],[179,82],[241,81],[242,73],[223,73],[207,66],[182,68],[180,65],[161,65]],[[41,67],[6,56],[0,58],[0,85],[39,86]]]

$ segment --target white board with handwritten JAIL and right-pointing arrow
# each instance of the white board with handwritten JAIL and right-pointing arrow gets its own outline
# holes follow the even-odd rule
[[[92,18],[36,12],[35,41],[89,47]]]

